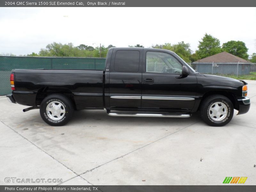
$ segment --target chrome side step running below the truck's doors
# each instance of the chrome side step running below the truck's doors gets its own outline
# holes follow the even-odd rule
[[[124,116],[124,117],[190,117],[190,114],[147,114],[147,113],[134,113],[134,114],[128,114],[128,113],[108,113],[109,116]]]

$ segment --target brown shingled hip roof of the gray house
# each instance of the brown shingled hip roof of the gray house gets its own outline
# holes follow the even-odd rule
[[[193,63],[251,63],[245,59],[232,55],[228,52],[221,52],[204,59],[194,61]]]

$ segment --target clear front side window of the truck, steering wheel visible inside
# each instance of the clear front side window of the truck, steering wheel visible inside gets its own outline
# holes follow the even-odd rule
[[[172,55],[163,52],[147,52],[146,72],[181,74],[181,71],[182,65]]]

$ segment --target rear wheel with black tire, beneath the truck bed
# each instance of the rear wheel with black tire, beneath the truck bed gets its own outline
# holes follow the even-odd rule
[[[67,124],[73,116],[73,112],[74,106],[72,102],[67,97],[60,94],[52,94],[45,97],[40,106],[42,119],[45,123],[52,126]],[[55,113],[56,116],[54,116]]]

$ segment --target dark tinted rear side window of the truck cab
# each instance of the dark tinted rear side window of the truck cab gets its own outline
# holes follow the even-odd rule
[[[116,52],[114,69],[116,72],[136,73],[139,71],[140,52],[119,50]]]

